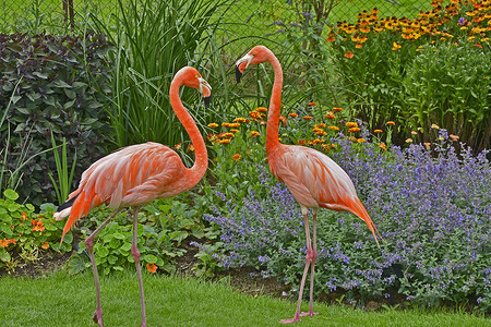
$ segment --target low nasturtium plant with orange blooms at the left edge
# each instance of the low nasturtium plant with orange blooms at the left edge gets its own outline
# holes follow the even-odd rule
[[[40,258],[39,252],[71,251],[72,232],[67,233],[60,246],[64,223],[52,218],[53,206],[44,205],[44,209],[35,213],[31,204],[16,203],[19,194],[12,190],[3,192],[0,198],[0,268],[14,270],[17,265],[35,262]]]

